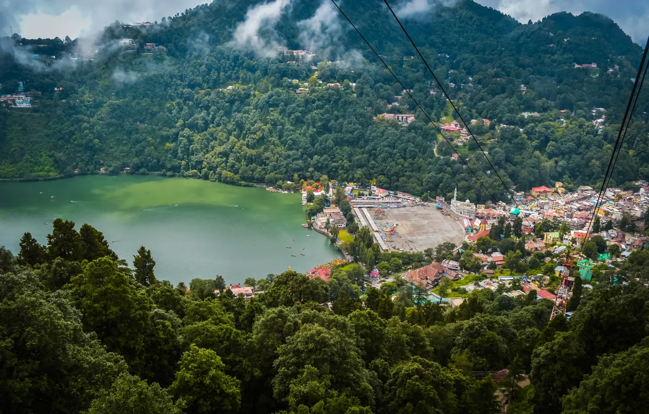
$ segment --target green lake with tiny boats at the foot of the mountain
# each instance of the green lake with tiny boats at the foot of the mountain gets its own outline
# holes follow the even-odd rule
[[[129,263],[141,245],[151,249],[156,277],[173,284],[216,274],[243,283],[343,256],[325,236],[302,228],[298,193],[153,176],[0,182],[0,245],[14,254],[24,232],[47,243],[56,217],[77,230],[94,226]]]

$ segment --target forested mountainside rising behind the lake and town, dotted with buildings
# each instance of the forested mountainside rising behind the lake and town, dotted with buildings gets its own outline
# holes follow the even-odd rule
[[[328,1],[279,8],[246,38],[249,32],[239,28],[254,23],[247,12],[256,5],[215,2],[149,29],[116,22],[90,46],[69,38],[3,38],[1,91],[15,93],[25,82],[34,91],[34,107],[0,106],[0,178],[58,177],[77,168],[96,173],[101,167],[111,174],[129,167],[130,173],[228,184],[326,175],[341,182],[376,180],[415,195],[447,196],[457,184],[462,198],[491,199],[469,169],[450,158],[458,152],[496,199],[506,199],[478,146],[448,146]],[[432,119],[458,117],[382,2],[342,8]],[[428,14],[406,17],[404,24],[463,118],[478,119],[472,132],[509,186],[527,190],[559,180],[572,189],[602,180],[639,45],[610,19],[590,13],[521,25],[462,0]],[[133,45],[118,47],[121,38]],[[149,51],[145,43],[165,49]],[[88,55],[88,49],[93,60],[69,57]],[[294,55],[297,49],[315,56]],[[591,62],[597,67],[574,67]],[[326,86],[336,82],[340,88]],[[299,94],[298,88],[310,91]],[[397,95],[398,106],[387,108]],[[611,186],[649,179],[643,95]],[[606,110],[601,130],[591,121],[604,113],[593,108]],[[416,118],[407,126],[373,119],[384,112]],[[459,138],[454,134],[448,138]]]

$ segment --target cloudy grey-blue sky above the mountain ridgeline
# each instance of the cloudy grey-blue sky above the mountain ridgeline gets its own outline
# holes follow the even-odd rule
[[[440,1],[453,0],[410,0],[409,3],[413,10],[425,13]],[[25,38],[76,38],[101,30],[116,20],[159,21],[162,16],[171,16],[200,3],[200,0],[0,0],[0,34],[6,36],[12,26],[14,32]],[[403,5],[402,1],[394,3]],[[648,0],[478,0],[478,3],[496,8],[522,23],[559,11],[602,13],[615,20],[635,42],[644,43],[649,34]]]

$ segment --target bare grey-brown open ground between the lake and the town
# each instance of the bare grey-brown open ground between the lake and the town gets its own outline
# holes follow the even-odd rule
[[[386,218],[376,219],[371,209],[374,223],[385,236],[390,250],[421,251],[450,241],[460,245],[464,231],[458,221],[443,215],[434,205],[402,208],[384,208]],[[383,229],[398,223],[397,230],[390,234]],[[397,249],[394,249],[397,246]]]

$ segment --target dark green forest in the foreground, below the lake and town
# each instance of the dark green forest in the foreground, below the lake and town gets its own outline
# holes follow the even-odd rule
[[[366,236],[353,243],[378,250]],[[594,269],[592,289],[577,277],[572,317],[548,324],[536,291],[501,295],[517,279],[447,308],[398,277],[451,257],[445,246],[379,252],[396,276],[380,289],[352,264],[328,282],[247,279],[263,291],[248,300],[221,276],[157,280],[145,247],[129,267],[88,224],[56,219],[47,245],[26,233],[20,247],[0,247],[3,413],[487,414],[510,398],[513,414],[632,414],[648,402],[647,252]],[[522,374],[531,385],[515,385]]]

